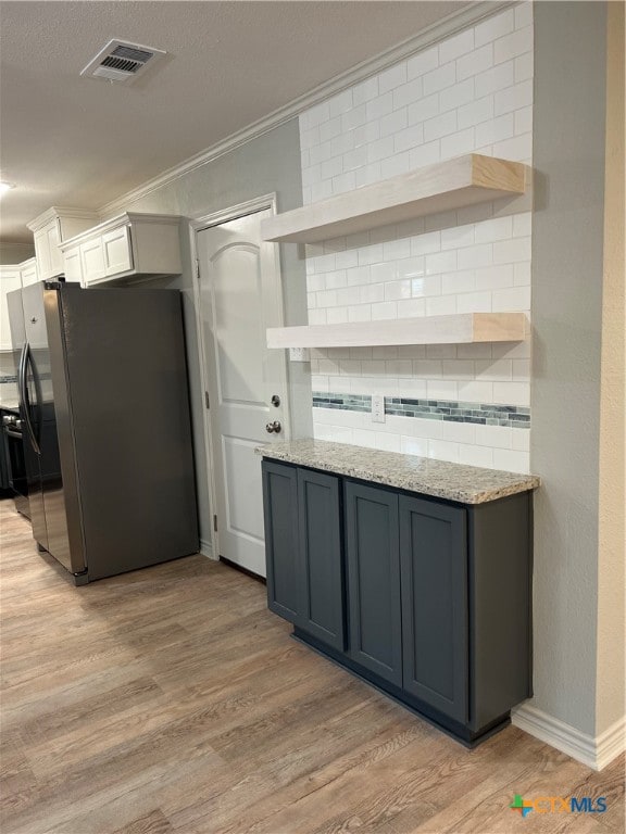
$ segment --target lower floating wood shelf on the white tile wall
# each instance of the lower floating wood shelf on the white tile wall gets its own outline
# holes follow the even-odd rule
[[[267,348],[365,348],[397,344],[522,342],[528,337],[525,313],[459,313],[347,325],[267,329]]]

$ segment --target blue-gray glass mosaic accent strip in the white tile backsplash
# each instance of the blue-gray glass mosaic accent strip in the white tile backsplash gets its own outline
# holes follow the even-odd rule
[[[372,410],[372,397],[368,394],[313,391],[313,408],[339,408],[345,412],[370,413]],[[474,422],[480,426],[506,426],[512,429],[530,428],[530,409],[519,405],[386,396],[385,414],[396,417],[417,417],[422,420]]]

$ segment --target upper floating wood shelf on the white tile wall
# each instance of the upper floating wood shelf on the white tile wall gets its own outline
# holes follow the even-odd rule
[[[468,153],[261,222],[263,240],[315,243],[425,214],[523,194],[530,168]]]

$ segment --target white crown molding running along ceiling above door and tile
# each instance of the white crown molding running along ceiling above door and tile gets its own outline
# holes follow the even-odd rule
[[[123,211],[134,201],[147,197],[153,191],[156,191],[156,189],[184,177],[196,168],[199,168],[226,153],[230,153],[236,148],[240,148],[252,139],[263,136],[263,134],[273,130],[285,122],[299,115],[302,111],[309,110],[309,108],[318,104],[330,96],[335,96],[348,87],[352,87],[353,85],[370,78],[372,75],[376,75],[383,70],[387,70],[392,64],[403,61],[416,52],[421,52],[423,49],[427,49],[434,43],[443,40],[443,38],[449,38],[468,26],[476,25],[485,17],[490,17],[491,15],[501,12],[503,9],[517,5],[518,2],[519,0],[498,0],[498,2],[493,2],[492,0],[479,0],[479,2],[472,3],[472,5],[461,9],[459,12],[442,17],[437,23],[422,29],[422,31],[414,37],[408,38],[391,49],[379,52],[367,61],[356,64],[351,70],[335,76],[335,78],[331,78],[329,81],[325,81],[303,96],[293,99],[285,106],[278,108],[278,110],[275,110],[267,116],[253,122],[242,130],[231,134],[229,137],[211,148],[206,148],[204,151],[185,160],[185,162],[168,168],[158,177],[127,191],[103,205],[99,210],[99,213],[103,217],[107,217],[114,212]]]

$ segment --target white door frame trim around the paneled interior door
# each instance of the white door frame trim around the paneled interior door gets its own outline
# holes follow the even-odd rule
[[[201,315],[201,306],[200,306],[201,295],[200,295],[200,263],[198,260],[198,233],[201,231],[204,231],[205,229],[210,229],[213,226],[220,226],[223,223],[228,223],[229,220],[236,220],[239,217],[246,217],[249,214],[255,214],[256,212],[261,212],[265,208],[268,208],[272,214],[277,213],[276,192],[262,194],[261,197],[247,200],[243,203],[237,203],[237,205],[231,205],[228,208],[221,208],[220,211],[216,211],[216,212],[210,212],[209,214],[204,214],[200,217],[196,217],[192,220],[189,220],[189,249],[190,249],[190,255],[191,255],[193,306],[196,307],[196,340],[198,343],[198,361],[200,364],[200,381],[202,384],[202,392],[205,392],[209,390],[208,388],[209,368],[206,367],[208,365],[206,345],[204,343],[205,340],[204,340],[204,333],[203,333],[203,327],[202,327],[202,315]],[[285,324],[285,305],[284,305],[284,294],[283,294],[283,274],[280,270],[279,247],[278,247],[278,243],[274,243],[271,241],[266,241],[266,243],[268,247],[272,247],[274,269],[277,276],[277,280],[275,281],[275,291],[276,291],[275,302],[278,309],[279,319],[280,319],[278,323],[278,326],[280,327]],[[283,361],[280,363],[280,374],[283,377],[285,391],[287,393],[287,396],[281,403],[284,437],[286,440],[289,440],[289,438],[291,437],[291,409],[290,409],[290,403],[289,403],[289,371],[288,371],[288,365],[287,365],[287,355],[285,351],[283,351]],[[204,394],[202,394],[202,396],[204,396]],[[211,502],[211,509],[213,510],[212,515],[216,515],[217,485],[215,483],[215,468],[213,466],[216,451],[213,447],[212,409],[206,408],[204,403],[202,403],[202,428],[204,433],[206,471],[209,475],[209,484],[208,484],[209,500]],[[215,530],[215,525],[213,525],[211,528],[211,542],[209,543],[204,540],[200,540],[200,546],[203,553],[206,553],[208,544],[210,544],[210,547],[211,547],[210,558],[215,559],[217,561],[220,559],[220,532]]]

